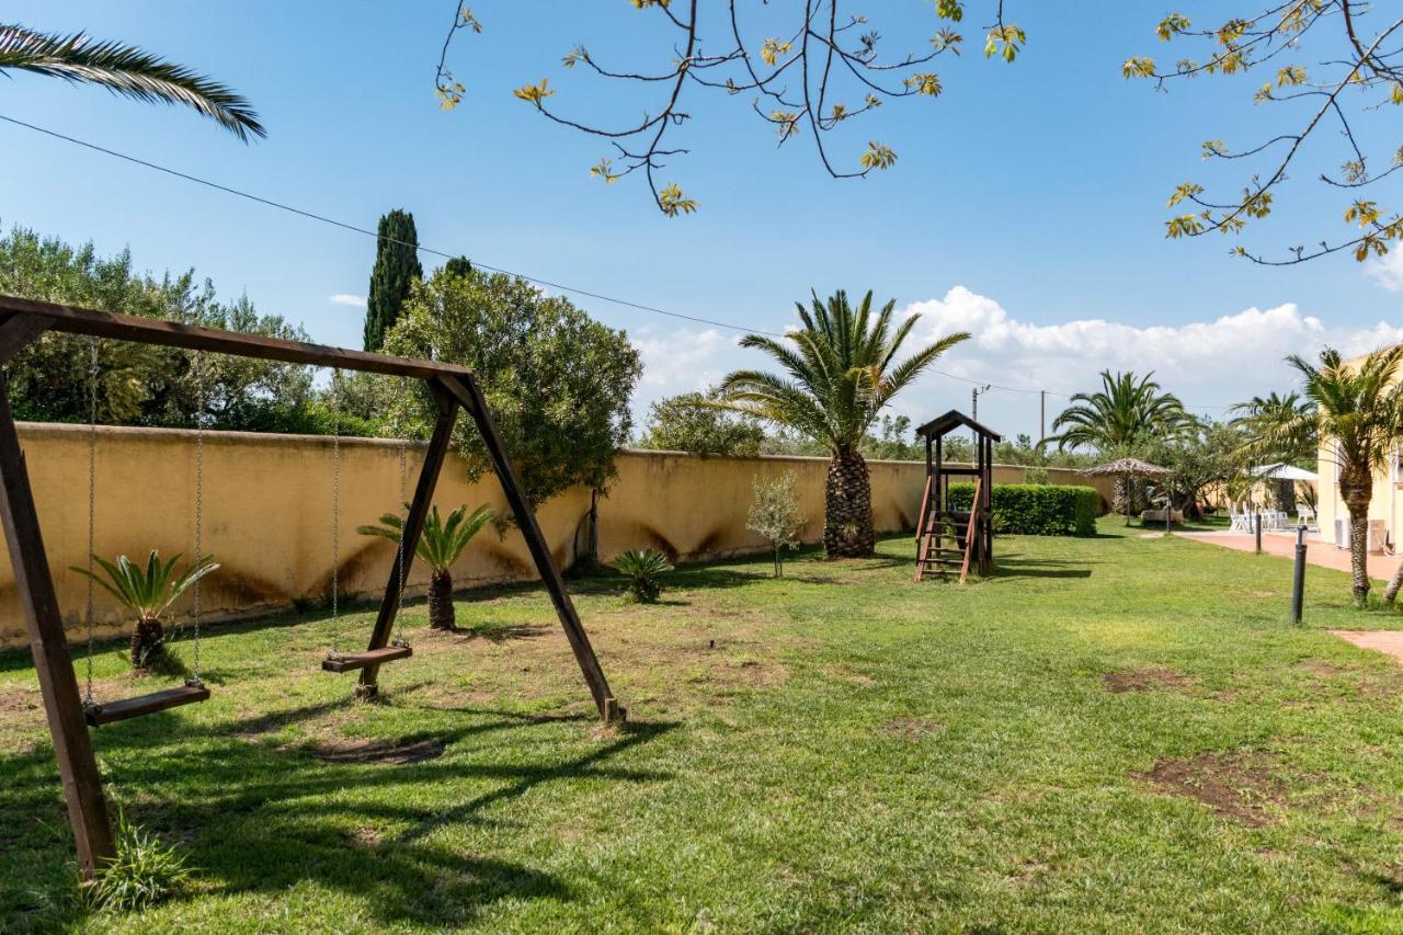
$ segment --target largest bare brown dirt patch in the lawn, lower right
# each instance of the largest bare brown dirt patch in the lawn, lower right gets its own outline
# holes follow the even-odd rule
[[[1284,802],[1285,788],[1273,762],[1268,754],[1205,752],[1190,760],[1160,760],[1149,772],[1131,775],[1256,827],[1267,823],[1268,806]]]

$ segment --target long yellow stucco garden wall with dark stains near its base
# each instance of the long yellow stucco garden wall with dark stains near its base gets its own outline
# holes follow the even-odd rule
[[[45,549],[70,632],[83,628],[87,584],[70,570],[87,552],[88,431],[83,425],[20,427],[34,486]],[[412,491],[422,448],[407,449],[407,489]],[[394,553],[384,539],[355,528],[397,511],[400,449],[394,442],[341,439],[340,584],[347,595],[384,588]],[[95,550],[133,559],[152,548],[166,556],[189,555],[195,536],[194,432],[157,428],[100,428],[97,444]],[[870,462],[878,531],[909,529],[920,508],[925,466]],[[822,535],[821,458],[697,458],[668,452],[623,452],[619,479],[599,501],[599,550],[605,560],[624,549],[657,546],[682,559],[721,557],[762,548],[745,529],[756,476],[794,470],[804,539]],[[295,599],[328,592],[333,567],[333,475],[330,438],[208,432],[203,441],[203,549],[220,570],[205,578],[202,604],[210,618],[265,614]],[[996,468],[996,483],[1023,480],[1021,468]],[[1087,483],[1076,472],[1049,472],[1054,483]],[[1093,484],[1096,486],[1096,484]],[[1104,482],[1100,484],[1107,487]],[[1108,494],[1104,489],[1103,496]],[[495,479],[467,482],[462,462],[449,459],[435,497],[441,508],[487,503],[505,511]],[[537,518],[557,562],[570,564],[575,536],[589,510],[589,493],[571,490],[544,504]],[[3,553],[3,543],[0,543]],[[463,585],[535,577],[521,533],[478,535],[453,569]],[[415,569],[410,591],[422,590]],[[188,609],[188,598],[180,611]],[[102,590],[95,590],[100,633],[126,621]],[[0,562],[0,644],[22,642],[8,556]]]

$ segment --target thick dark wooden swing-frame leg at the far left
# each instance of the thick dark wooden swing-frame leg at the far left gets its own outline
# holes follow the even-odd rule
[[[4,525],[10,564],[14,566],[15,592],[24,612],[29,651],[39,677],[43,712],[53,737],[53,755],[59,761],[63,799],[69,824],[79,851],[83,876],[93,876],[116,856],[112,824],[102,799],[102,776],[93,757],[93,738],[83,717],[83,698],[73,674],[59,599],[43,553],[39,517],[34,508],[29,473],[20,448],[20,435],[10,413],[10,397],[0,378],[0,522]]]

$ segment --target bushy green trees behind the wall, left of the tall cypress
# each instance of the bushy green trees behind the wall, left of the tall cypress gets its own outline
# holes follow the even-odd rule
[[[130,254],[98,257],[14,227],[0,237],[0,292],[187,324],[307,340],[282,317],[260,314],[247,298],[220,302],[194,271],[156,279],[132,270]],[[10,399],[18,418],[80,423],[88,418],[91,343],[45,334],[10,364]],[[311,373],[304,366],[181,348],[101,341],[98,420],[126,425],[306,431],[314,421]],[[330,428],[330,427],[328,427]]]

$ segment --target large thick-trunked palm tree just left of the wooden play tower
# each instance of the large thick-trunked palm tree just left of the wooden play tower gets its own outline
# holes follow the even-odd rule
[[[815,292],[812,309],[797,305],[803,329],[783,340],[760,334],[741,338],[741,347],[765,351],[786,375],[737,371],[721,382],[723,404],[828,446],[832,463],[824,549],[829,557],[870,556],[875,545],[873,491],[861,455],[867,430],[897,393],[969,334],[946,336],[898,364],[897,354],[920,316],[892,327],[895,300],[875,316],[871,292],[856,309],[843,291],[826,303]]]

